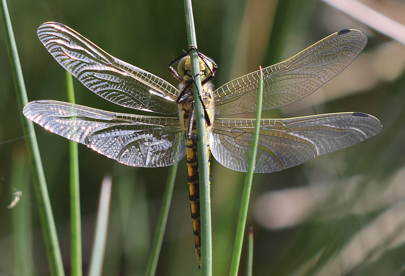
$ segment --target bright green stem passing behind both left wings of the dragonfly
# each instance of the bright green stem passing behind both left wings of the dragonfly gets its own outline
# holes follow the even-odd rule
[[[67,98],[74,104],[72,75],[66,71]],[[79,157],[77,143],[69,141],[70,159],[70,260],[71,275],[82,276],[82,223],[80,219]]]

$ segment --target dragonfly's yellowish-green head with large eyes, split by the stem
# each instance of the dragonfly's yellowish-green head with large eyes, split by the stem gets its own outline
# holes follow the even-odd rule
[[[208,79],[209,77],[214,76],[215,67],[211,61],[208,59],[198,57],[198,65],[199,65],[199,72],[198,74],[201,76],[201,81]],[[191,73],[191,59],[190,56],[183,57],[178,65],[177,65],[177,72],[179,75],[184,79],[185,82],[192,80],[192,73]]]

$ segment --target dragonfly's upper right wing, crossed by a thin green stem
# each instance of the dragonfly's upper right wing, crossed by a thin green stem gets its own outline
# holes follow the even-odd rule
[[[263,69],[263,106],[270,110],[292,104],[313,93],[346,68],[366,46],[357,30],[336,32],[289,60]],[[220,115],[255,112],[259,71],[232,80],[214,91]]]

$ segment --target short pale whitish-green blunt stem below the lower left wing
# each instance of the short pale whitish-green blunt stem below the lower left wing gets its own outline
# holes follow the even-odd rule
[[[110,214],[112,179],[105,175],[101,183],[100,201],[98,204],[96,231],[92,257],[90,261],[89,276],[101,276],[107,242],[108,220]]]

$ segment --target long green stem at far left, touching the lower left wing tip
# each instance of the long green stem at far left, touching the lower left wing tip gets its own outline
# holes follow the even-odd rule
[[[28,97],[25,89],[21,64],[18,57],[17,45],[14,38],[13,27],[11,25],[11,19],[6,0],[2,0],[0,9],[3,16],[3,24],[6,33],[11,70],[13,73],[14,84],[17,91],[20,116],[22,118],[22,127],[24,135],[27,137],[26,143],[31,159],[34,190],[38,203],[39,217],[41,218],[42,231],[44,233],[49,267],[51,275],[63,276],[65,273],[63,270],[62,256],[60,253],[58,236],[56,234],[55,221],[52,214],[44,168],[42,166],[41,156],[39,155],[38,144],[36,142],[34,125],[30,120],[24,118],[22,115],[22,107],[28,103]]]

